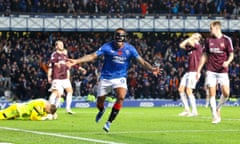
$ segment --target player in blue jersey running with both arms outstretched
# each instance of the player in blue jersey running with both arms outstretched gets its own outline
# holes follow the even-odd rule
[[[118,115],[125,96],[127,94],[127,71],[130,60],[135,58],[145,69],[159,74],[158,67],[154,67],[145,61],[137,52],[134,46],[127,42],[127,32],[123,28],[118,28],[114,32],[114,40],[103,44],[97,51],[85,55],[79,59],[70,60],[69,66],[81,64],[95,60],[104,55],[104,64],[101,71],[100,81],[97,90],[97,108],[99,112],[96,115],[96,122],[99,122],[105,112],[104,101],[106,95],[112,91],[115,92],[116,102],[114,103],[108,121],[103,129],[108,132],[110,125]]]

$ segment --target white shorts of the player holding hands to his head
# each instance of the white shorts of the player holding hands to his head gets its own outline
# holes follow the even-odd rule
[[[180,86],[188,87],[191,89],[195,89],[196,84],[197,84],[197,72],[187,72],[183,75]]]

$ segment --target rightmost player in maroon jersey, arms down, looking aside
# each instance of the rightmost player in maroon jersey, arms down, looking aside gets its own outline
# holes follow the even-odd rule
[[[222,33],[221,22],[213,21],[210,24],[211,36],[206,40],[204,54],[198,67],[200,74],[203,65],[206,66],[206,84],[209,89],[210,106],[213,124],[221,122],[220,109],[230,94],[228,66],[233,60],[233,45],[230,37]],[[222,95],[216,105],[217,83],[221,86]]]

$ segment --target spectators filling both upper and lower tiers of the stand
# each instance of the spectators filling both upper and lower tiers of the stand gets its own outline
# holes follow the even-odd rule
[[[107,16],[146,18],[170,16],[219,16],[238,19],[240,11],[238,0],[2,0],[0,12],[3,17],[19,15],[44,16]],[[177,17],[176,17],[177,18]],[[129,41],[150,63],[160,59],[164,69],[161,76],[154,77],[132,62],[129,70],[129,99],[179,98],[177,87],[186,67],[186,54],[178,44],[188,36],[188,32],[155,31],[131,32]],[[203,33],[207,35],[207,33]],[[228,33],[233,39],[235,59],[230,66],[231,96],[240,95],[240,33]],[[11,100],[25,101],[32,98],[47,98],[49,85],[46,79],[48,59],[53,51],[55,40],[62,39],[70,52],[77,58],[93,52],[101,44],[112,38],[111,32],[51,32],[51,31],[2,31],[0,33],[0,96],[11,94]],[[84,64],[87,75],[72,69],[72,83],[80,81],[80,94],[95,94],[101,60]],[[198,98],[204,98],[203,81],[197,86]],[[143,91],[144,90],[144,91]],[[75,92],[76,93],[76,92]]]

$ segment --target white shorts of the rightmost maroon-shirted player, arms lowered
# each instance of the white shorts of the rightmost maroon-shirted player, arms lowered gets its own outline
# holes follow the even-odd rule
[[[208,87],[216,86],[217,83],[219,83],[220,85],[229,86],[230,81],[229,81],[228,73],[216,73],[216,72],[207,71],[205,83]]]

